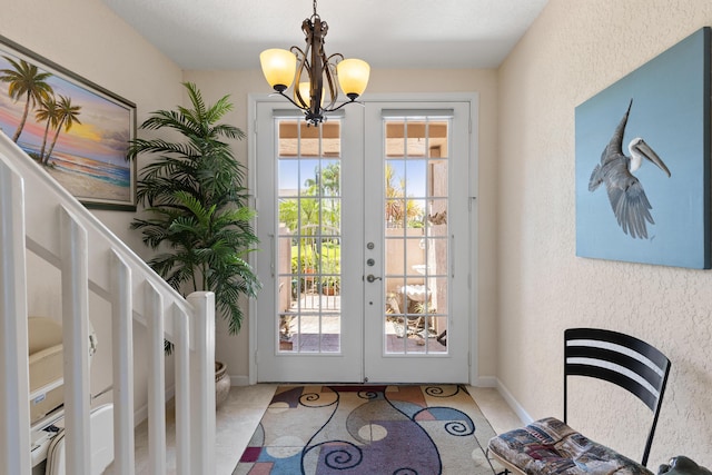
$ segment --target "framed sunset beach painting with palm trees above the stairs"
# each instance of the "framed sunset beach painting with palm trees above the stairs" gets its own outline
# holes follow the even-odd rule
[[[85,206],[136,210],[136,106],[4,37],[0,131]]]

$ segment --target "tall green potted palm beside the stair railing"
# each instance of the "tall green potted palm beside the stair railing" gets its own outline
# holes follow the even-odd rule
[[[244,317],[240,298],[254,297],[261,286],[247,261],[258,238],[251,226],[255,210],[248,206],[245,166],[226,142],[245,133],[219,123],[233,110],[229,96],[206,106],[196,85],[184,86],[191,108],[155,111],[140,126],[178,132],[180,140],[174,141],[171,133],[171,139],[129,144],[129,159],[141,154],[152,159],[142,167],[136,186],[147,216],[134,219],[131,228],[157,250],[149,266],[184,295],[214,291],[216,314],[227,320],[230,334],[237,334]],[[220,365],[216,363],[216,372],[225,374]]]

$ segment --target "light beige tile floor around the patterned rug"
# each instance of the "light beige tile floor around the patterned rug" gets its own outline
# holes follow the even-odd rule
[[[259,424],[276,384],[234,386],[228,399],[217,410],[216,475],[230,475],[247,446],[255,427]],[[473,396],[492,427],[497,433],[522,425],[516,414],[505,403],[495,388],[468,386]],[[175,420],[172,407],[167,408],[168,473],[176,473]],[[136,429],[136,473],[148,474],[148,426],[144,422]],[[107,471],[107,474],[110,473]]]

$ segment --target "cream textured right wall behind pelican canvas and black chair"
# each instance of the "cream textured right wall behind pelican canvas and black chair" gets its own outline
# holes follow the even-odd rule
[[[710,23],[709,0],[551,0],[498,71],[497,376],[533,418],[561,416],[564,328],[650,340],[673,362],[653,469],[678,454],[712,465],[712,274],[575,257],[574,108]],[[574,426],[640,458],[636,402],[573,396]]]

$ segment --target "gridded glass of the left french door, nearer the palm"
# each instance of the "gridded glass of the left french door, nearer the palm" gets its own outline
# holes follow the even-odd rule
[[[279,353],[340,353],[340,122],[278,122]]]

